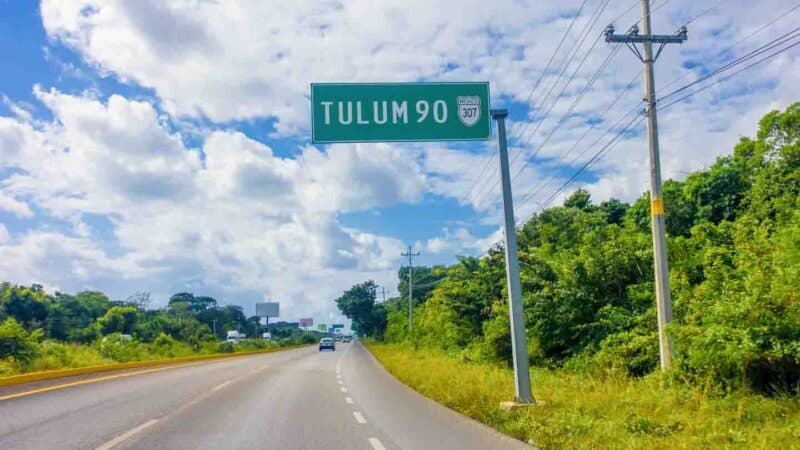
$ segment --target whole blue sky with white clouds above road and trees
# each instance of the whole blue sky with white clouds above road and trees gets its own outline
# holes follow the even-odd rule
[[[501,237],[494,142],[313,146],[308,84],[488,80],[494,106],[511,111],[522,219],[641,102],[640,80],[624,89],[639,70],[627,50],[587,87],[612,49],[594,37],[638,9],[580,3],[0,0],[0,279],[145,290],[157,304],[183,290],[246,308],[276,299],[285,319],[327,322],[353,283],[394,289],[406,245],[427,265],[480,255]],[[697,17],[707,7],[656,10],[664,32],[696,17],[659,60],[663,91],[800,18],[754,34],[789,5],[728,0]],[[798,86],[795,51],[665,111],[665,177],[729,153]],[[626,134],[554,203],[578,187],[636,198],[643,137]]]

